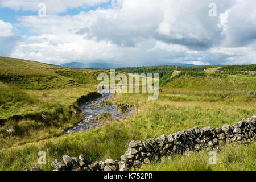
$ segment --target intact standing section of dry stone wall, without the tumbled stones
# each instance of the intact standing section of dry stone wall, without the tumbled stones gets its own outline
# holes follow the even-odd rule
[[[223,125],[222,129],[211,126],[204,128],[196,126],[168,136],[161,135],[156,139],[132,141],[121,159],[130,169],[175,153],[183,154],[184,152],[203,149],[218,150],[224,144],[234,142],[250,143],[251,140],[256,139],[255,121],[256,116],[253,116],[249,119],[243,119],[233,126]]]

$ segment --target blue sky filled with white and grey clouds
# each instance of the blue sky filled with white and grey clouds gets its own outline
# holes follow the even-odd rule
[[[51,64],[255,64],[255,0],[0,0],[0,56]]]

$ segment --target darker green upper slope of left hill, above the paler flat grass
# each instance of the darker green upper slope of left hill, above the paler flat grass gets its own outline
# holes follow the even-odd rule
[[[0,81],[21,89],[46,90],[97,84],[100,69],[69,69],[34,61],[0,57]],[[74,82],[75,81],[75,82]]]

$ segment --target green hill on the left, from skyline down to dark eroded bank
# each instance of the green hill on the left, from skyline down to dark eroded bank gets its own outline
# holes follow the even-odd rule
[[[99,73],[109,75],[109,71],[100,69],[69,69],[0,57],[0,119],[52,111],[59,104],[67,107],[76,98],[96,90]],[[67,97],[61,98],[61,93]]]

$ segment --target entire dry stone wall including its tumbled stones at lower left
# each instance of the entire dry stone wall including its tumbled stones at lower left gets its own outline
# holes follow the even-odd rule
[[[233,126],[223,125],[222,128],[196,126],[168,136],[131,141],[128,150],[121,156],[121,161],[107,159],[104,162],[92,162],[82,154],[79,159],[64,155],[63,160],[56,159],[52,162],[52,167],[57,171],[126,171],[139,168],[142,163],[148,164],[152,160],[159,160],[163,156],[200,150],[218,150],[225,144],[234,142],[250,143],[256,139],[255,122],[256,116],[253,116],[242,119]],[[40,168],[31,166],[30,170],[36,171]]]

